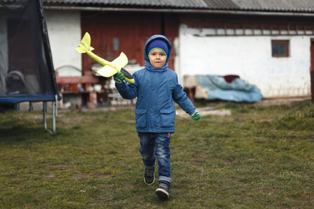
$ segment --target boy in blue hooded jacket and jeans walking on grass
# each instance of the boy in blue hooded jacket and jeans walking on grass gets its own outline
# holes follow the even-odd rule
[[[155,181],[155,157],[158,161],[158,182],[156,194],[161,199],[169,197],[170,178],[170,136],[174,133],[176,110],[174,102],[190,114],[194,121],[200,120],[200,113],[183,88],[178,84],[177,73],[167,68],[172,45],[165,36],[154,35],[144,47],[145,68],[133,73],[134,84],[126,84],[124,75],[114,75],[116,88],[122,98],[135,104],[136,131],[140,137],[140,153],[145,166],[144,182]]]

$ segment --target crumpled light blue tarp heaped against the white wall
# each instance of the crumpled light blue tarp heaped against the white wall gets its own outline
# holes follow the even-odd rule
[[[239,78],[228,83],[224,77],[198,75],[197,84],[208,90],[208,100],[232,102],[258,102],[262,100],[262,93],[257,86],[247,84]]]

